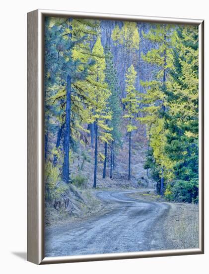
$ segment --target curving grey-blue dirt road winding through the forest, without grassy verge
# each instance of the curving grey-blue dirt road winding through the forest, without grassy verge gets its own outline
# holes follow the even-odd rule
[[[169,205],[127,194],[140,190],[98,191],[103,212],[45,231],[45,256],[88,255],[172,249],[163,235]]]

